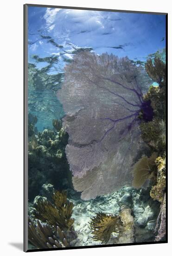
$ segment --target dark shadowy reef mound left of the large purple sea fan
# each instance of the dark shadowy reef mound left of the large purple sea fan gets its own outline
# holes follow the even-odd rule
[[[32,120],[37,120],[33,115]],[[29,201],[39,194],[42,185],[51,183],[57,190],[72,186],[69,164],[65,155],[68,135],[61,128],[61,121],[53,120],[56,128],[38,132],[35,121],[28,143]],[[65,185],[66,184],[66,185]]]

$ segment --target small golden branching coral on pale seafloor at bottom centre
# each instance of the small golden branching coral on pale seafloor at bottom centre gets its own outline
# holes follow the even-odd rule
[[[90,229],[92,229],[93,239],[96,241],[102,241],[102,243],[108,243],[112,232],[119,232],[121,221],[119,216],[106,215],[99,212],[89,222]]]

